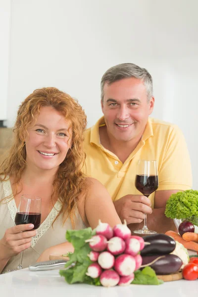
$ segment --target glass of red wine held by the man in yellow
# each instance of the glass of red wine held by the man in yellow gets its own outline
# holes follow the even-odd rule
[[[139,160],[138,172],[136,175],[135,186],[144,196],[149,197],[151,193],[158,188],[158,173],[155,160]],[[148,230],[147,214],[145,213],[144,227],[140,230],[135,230],[137,234],[155,234],[155,231]]]

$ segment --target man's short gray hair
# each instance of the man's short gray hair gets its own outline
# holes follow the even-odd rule
[[[143,81],[147,90],[147,100],[150,101],[152,97],[153,87],[152,87],[152,77],[145,68],[141,68],[132,63],[118,64],[109,68],[102,76],[100,88],[101,88],[101,100],[103,102],[104,98],[104,84],[107,83],[111,85],[112,83],[119,81],[124,78],[135,77]]]

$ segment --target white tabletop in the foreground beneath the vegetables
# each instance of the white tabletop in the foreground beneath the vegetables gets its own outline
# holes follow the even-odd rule
[[[159,286],[113,288],[68,285],[59,270],[32,272],[28,268],[0,275],[0,297],[198,297],[198,280],[173,281]]]

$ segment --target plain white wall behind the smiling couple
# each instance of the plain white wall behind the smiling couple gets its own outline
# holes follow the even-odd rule
[[[12,0],[7,124],[34,89],[79,99],[88,126],[101,116],[99,83],[122,62],[154,82],[153,116],[183,130],[198,189],[198,1]]]

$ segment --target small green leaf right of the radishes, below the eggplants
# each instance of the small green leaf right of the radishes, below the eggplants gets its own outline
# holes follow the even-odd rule
[[[163,284],[162,280],[159,280],[156,276],[155,271],[147,266],[142,271],[137,270],[134,272],[135,278],[132,284],[139,284],[139,285],[160,285]]]

